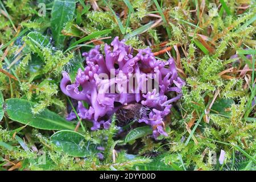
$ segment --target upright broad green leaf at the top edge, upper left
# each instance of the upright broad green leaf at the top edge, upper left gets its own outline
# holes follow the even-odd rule
[[[63,47],[65,36],[61,35],[61,31],[65,24],[73,19],[76,9],[75,0],[55,0],[51,13],[51,30],[55,45]]]

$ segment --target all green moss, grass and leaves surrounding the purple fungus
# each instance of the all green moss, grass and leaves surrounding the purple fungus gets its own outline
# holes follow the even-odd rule
[[[0,170],[255,170],[255,5],[0,1]],[[175,58],[186,85],[168,137],[137,127],[118,138],[115,117],[94,132],[65,121],[72,104],[60,92],[61,71],[74,78],[81,53],[115,36]]]

